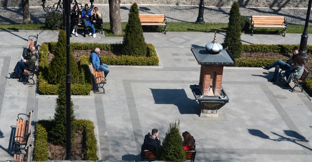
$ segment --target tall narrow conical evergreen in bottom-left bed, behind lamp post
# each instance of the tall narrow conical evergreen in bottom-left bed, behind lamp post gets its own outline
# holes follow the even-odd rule
[[[58,97],[56,98],[56,107],[54,113],[55,126],[51,130],[50,140],[54,144],[66,144],[66,84],[65,79],[59,84]],[[74,104],[71,101],[71,139],[75,137],[75,115]]]

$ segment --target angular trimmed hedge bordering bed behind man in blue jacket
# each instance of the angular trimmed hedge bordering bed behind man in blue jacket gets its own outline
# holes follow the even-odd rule
[[[106,44],[106,43],[71,43],[73,50],[92,50],[99,47],[101,50],[112,51],[112,49],[120,49],[122,44]],[[56,48],[56,42],[42,43],[40,46],[40,66],[38,74],[38,90],[41,95],[57,95],[57,85],[48,84],[44,75],[47,72],[48,53],[49,50]],[[155,47],[152,44],[147,44],[147,56],[101,56],[103,63],[108,65],[134,65],[134,66],[158,66],[158,56]],[[90,95],[91,91],[91,73],[89,70],[89,56],[80,56],[80,83],[71,84],[72,95]],[[83,79],[84,77],[84,79]]]

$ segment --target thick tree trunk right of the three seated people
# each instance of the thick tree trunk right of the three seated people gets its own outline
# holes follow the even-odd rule
[[[120,0],[109,0],[110,6],[110,31],[121,35]]]

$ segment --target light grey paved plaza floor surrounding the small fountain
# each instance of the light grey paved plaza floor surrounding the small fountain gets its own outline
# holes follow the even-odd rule
[[[185,21],[194,22],[196,18]],[[17,114],[34,110],[32,126],[54,115],[57,96],[39,95],[36,85],[6,78],[20,59],[28,36],[38,33],[39,44],[57,41],[58,31],[0,31],[0,161],[13,159],[10,141]],[[224,35],[217,33],[217,42],[222,43]],[[164,138],[169,123],[180,120],[181,134],[188,131],[196,139],[196,162],[311,161],[311,96],[290,92],[279,82],[268,82],[273,69],[225,67],[222,87],[230,102],[220,109],[218,118],[198,117],[197,102],[189,86],[198,85],[200,65],[190,46],[204,47],[213,41],[214,33],[144,32],[144,37],[155,46],[159,66],[110,66],[105,94],[71,96],[76,118],[95,124],[100,160],[140,161],[144,135],[157,128],[159,137]],[[310,45],[311,37],[309,34]],[[288,33],[286,37],[241,35],[244,44],[299,44],[300,39],[301,34]],[[122,40],[100,34],[96,38],[71,37],[71,42]]]

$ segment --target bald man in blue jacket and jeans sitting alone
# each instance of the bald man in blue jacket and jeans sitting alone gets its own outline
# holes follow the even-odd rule
[[[90,62],[94,67],[95,71],[104,71],[104,77],[106,78],[107,74],[110,72],[108,65],[104,64],[100,59],[100,48],[95,48],[91,51]]]

